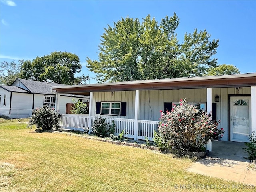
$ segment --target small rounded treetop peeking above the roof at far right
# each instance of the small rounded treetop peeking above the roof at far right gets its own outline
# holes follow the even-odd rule
[[[234,65],[222,64],[208,70],[208,76],[239,74],[240,70]]]

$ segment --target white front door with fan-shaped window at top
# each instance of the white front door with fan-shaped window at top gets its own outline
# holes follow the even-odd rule
[[[251,134],[251,97],[230,97],[230,140],[249,142]]]

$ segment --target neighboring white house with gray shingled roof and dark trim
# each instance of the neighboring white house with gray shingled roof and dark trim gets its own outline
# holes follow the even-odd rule
[[[32,115],[32,110],[48,105],[55,108],[56,94],[52,86],[67,86],[58,83],[47,83],[17,78],[11,86],[0,85],[0,115],[10,118],[26,118]],[[89,101],[89,96],[62,94],[60,96],[59,112],[66,113],[66,104],[73,100]]]

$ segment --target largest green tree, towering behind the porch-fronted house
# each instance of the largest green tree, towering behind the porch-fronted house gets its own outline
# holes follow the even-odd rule
[[[174,13],[158,24],[150,15],[143,19],[129,17],[108,25],[101,36],[98,60],[87,58],[87,67],[98,82],[118,82],[202,76],[215,67],[219,40],[210,40],[206,30],[186,33],[179,43],[176,29],[179,18]]]

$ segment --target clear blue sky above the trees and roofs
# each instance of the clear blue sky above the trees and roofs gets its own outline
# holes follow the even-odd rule
[[[185,32],[206,29],[219,39],[218,64],[233,64],[241,73],[256,72],[256,1],[61,1],[0,0],[0,61],[32,60],[54,51],[98,60],[100,36],[121,17],[148,14],[158,22],[176,12],[180,42]],[[96,80],[91,79],[90,83]]]

